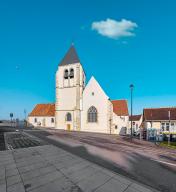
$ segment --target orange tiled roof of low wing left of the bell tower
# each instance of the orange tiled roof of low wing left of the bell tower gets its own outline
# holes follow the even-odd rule
[[[37,104],[29,116],[55,116],[55,104]]]

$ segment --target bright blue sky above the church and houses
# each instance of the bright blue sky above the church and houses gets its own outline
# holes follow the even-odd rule
[[[111,99],[129,99],[133,83],[135,113],[176,106],[175,10],[174,0],[1,0],[0,119],[55,101],[55,72],[72,41],[87,80],[95,76]],[[93,27],[108,19],[117,33]]]

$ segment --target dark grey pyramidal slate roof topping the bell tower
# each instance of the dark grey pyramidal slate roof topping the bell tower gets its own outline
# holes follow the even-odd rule
[[[74,45],[71,45],[59,66],[70,65],[73,63],[80,63],[80,60]]]

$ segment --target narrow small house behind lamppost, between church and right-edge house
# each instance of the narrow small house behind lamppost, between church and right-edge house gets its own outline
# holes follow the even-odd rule
[[[129,117],[129,129],[131,129],[131,121],[132,121],[132,131],[133,134],[140,134],[140,126],[142,124],[142,115],[133,115]]]

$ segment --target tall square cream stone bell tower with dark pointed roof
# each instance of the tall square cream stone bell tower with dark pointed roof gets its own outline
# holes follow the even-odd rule
[[[71,45],[56,72],[56,128],[77,131],[81,129],[85,78],[75,47]]]

